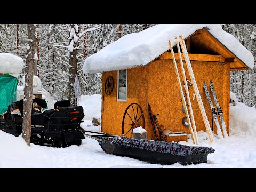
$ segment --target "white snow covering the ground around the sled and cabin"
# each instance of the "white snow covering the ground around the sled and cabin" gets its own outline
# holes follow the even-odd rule
[[[86,113],[90,113],[90,111],[94,111],[92,115],[99,113],[100,110],[94,108],[100,106],[100,97],[100,95],[92,95],[83,99],[82,106],[88,107]],[[197,133],[199,146],[215,149],[215,153],[208,155],[207,163],[187,166],[182,166],[179,163],[173,165],[150,164],[129,157],[106,154],[99,143],[91,138],[82,140],[81,146],[52,148],[31,143],[31,147],[28,147],[21,135],[14,137],[0,131],[0,167],[256,167],[256,137],[253,134],[256,129],[256,126],[253,126],[256,121],[255,114],[255,106],[250,108],[243,103],[238,103],[237,106],[230,106],[230,125],[233,126],[230,128],[230,137],[218,139],[218,136],[214,135],[214,142],[210,144],[206,132],[199,131]],[[100,127],[93,126],[91,117],[88,116],[88,118],[82,124],[83,128],[99,131]],[[188,143],[186,141],[179,143],[193,145],[190,138],[189,135]]]

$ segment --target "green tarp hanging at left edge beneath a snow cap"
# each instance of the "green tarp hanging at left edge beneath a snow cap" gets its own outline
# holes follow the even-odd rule
[[[17,78],[0,75],[0,114],[7,111],[10,103],[16,101]]]

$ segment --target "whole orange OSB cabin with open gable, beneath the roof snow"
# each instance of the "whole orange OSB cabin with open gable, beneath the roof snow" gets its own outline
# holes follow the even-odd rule
[[[206,81],[210,90],[209,84],[212,80],[229,134],[230,71],[250,68],[247,63],[243,62],[241,58],[238,58],[215,38],[208,28],[196,30],[185,38],[185,43],[209,123],[212,125],[212,112],[203,90],[203,82]],[[173,46],[173,49],[183,83],[177,45]],[[127,126],[128,128],[124,128],[127,131],[131,127],[131,125],[128,125],[132,124],[131,119],[134,116],[140,116],[141,112],[139,108],[137,113],[137,108],[134,105],[128,111],[126,109],[131,103],[138,103],[143,113],[145,121],[143,128],[147,131],[147,139],[154,139],[147,108],[149,103],[153,114],[159,114],[157,119],[162,130],[190,133],[189,127],[182,124],[182,118],[186,118],[186,114],[182,111],[180,90],[172,59],[170,49],[166,49],[166,52],[158,55],[147,65],[102,72],[102,132],[122,135],[122,126]],[[183,63],[187,79],[190,80],[185,60],[183,60]],[[106,85],[109,84],[109,81],[112,81],[108,77],[113,77],[114,88],[112,92],[111,87],[109,88]],[[105,86],[107,91],[105,91]],[[195,97],[193,99],[193,87],[190,87],[189,93],[197,132],[206,131],[198,102]],[[126,112],[129,112],[131,118],[127,115],[124,117]],[[123,117],[125,118],[124,121]],[[142,126],[142,120],[141,118],[138,126]],[[215,124],[213,124],[213,129],[214,133],[217,134]],[[126,136],[130,137],[131,135]]]

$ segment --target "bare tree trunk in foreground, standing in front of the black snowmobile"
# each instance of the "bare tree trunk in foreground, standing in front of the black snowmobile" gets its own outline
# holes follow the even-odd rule
[[[28,47],[26,53],[26,75],[23,99],[23,122],[22,122],[22,137],[30,146],[31,137],[31,112],[32,112],[32,95],[33,95],[33,73],[34,73],[34,57],[36,45],[36,27],[33,24],[28,24]]]

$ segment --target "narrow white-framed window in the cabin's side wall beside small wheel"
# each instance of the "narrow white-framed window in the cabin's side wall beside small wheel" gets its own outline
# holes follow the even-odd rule
[[[117,101],[127,101],[127,69],[117,71]]]

